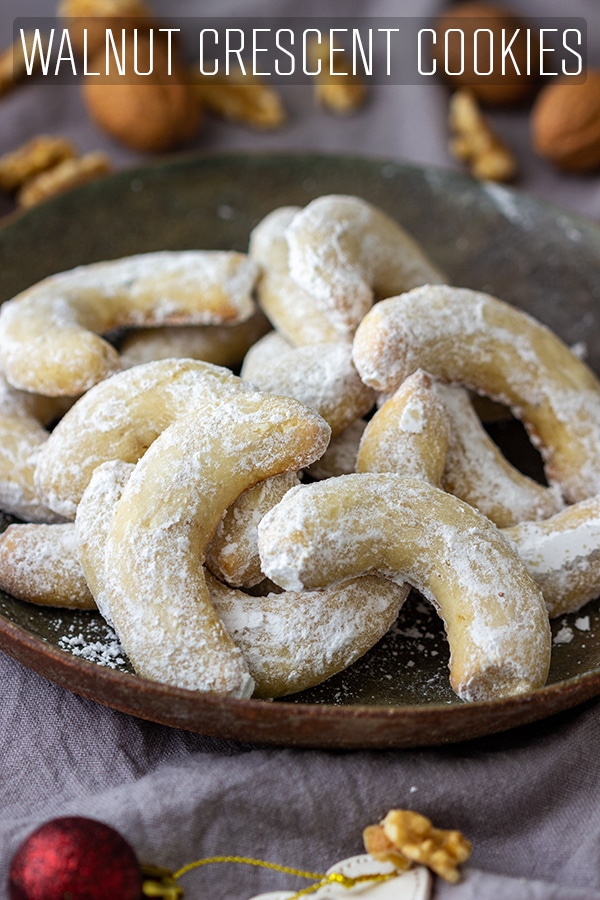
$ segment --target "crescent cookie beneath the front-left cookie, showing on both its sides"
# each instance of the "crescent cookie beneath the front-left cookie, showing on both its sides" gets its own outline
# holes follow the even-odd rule
[[[114,508],[133,464],[99,466],[77,510],[79,553],[98,607],[110,623],[108,598],[96,573]],[[275,481],[281,476],[269,479]],[[205,572],[210,601],[241,649],[255,682],[253,696],[272,698],[306,690],[351,665],[391,627],[407,589],[365,576],[324,591],[251,596]]]

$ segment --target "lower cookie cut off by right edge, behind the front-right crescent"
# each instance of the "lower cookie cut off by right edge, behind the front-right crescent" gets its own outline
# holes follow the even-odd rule
[[[600,597],[600,497],[573,503],[542,522],[521,522],[504,536],[537,581],[550,617]]]

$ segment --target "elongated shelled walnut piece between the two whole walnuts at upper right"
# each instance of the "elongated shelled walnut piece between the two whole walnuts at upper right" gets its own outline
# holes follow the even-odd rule
[[[494,132],[470,90],[458,90],[452,95],[448,124],[452,132],[450,152],[467,163],[476,178],[511,181],[515,177],[514,154]]]

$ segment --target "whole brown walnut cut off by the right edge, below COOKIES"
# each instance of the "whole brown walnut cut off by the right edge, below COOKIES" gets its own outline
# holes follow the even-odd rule
[[[533,148],[560,169],[600,168],[600,71],[576,84],[560,78],[539,94],[531,111]]]

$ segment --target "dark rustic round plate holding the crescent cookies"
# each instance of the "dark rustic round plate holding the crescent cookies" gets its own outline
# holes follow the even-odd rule
[[[122,172],[0,230],[0,301],[53,272],[159,249],[245,249],[269,210],[358,194],[420,241],[458,285],[502,297],[585,348],[600,371],[600,231],[531,197],[461,175],[339,156],[223,156]],[[517,436],[507,453],[523,453]],[[525,456],[522,456],[525,460]],[[535,463],[535,460],[533,460]],[[503,731],[600,694],[600,604],[553,623],[545,688],[464,704],[439,621],[417,597],[347,672],[286,701],[229,700],[137,678],[92,613],[0,594],[0,648],[83,696],[178,728],[256,743],[413,747]]]

